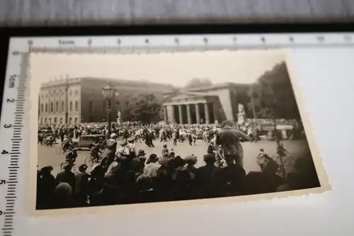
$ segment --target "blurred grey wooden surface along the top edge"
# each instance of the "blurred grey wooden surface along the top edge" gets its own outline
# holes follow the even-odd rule
[[[0,0],[0,26],[352,21],[354,0]]]

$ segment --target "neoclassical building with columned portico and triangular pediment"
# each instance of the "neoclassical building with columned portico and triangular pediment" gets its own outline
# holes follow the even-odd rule
[[[246,114],[250,84],[215,84],[164,94],[164,122],[169,124],[210,124],[237,120],[238,104]]]

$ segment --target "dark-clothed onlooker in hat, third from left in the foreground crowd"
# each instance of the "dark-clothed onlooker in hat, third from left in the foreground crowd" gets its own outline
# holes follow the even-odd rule
[[[75,175],[75,201],[77,206],[86,206],[87,197],[89,196],[89,178],[90,175],[86,173],[86,164],[81,164],[79,173]]]

